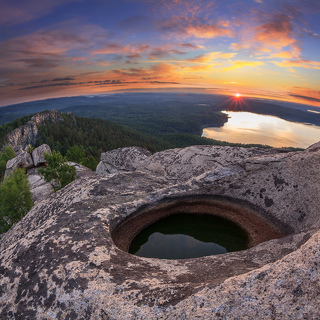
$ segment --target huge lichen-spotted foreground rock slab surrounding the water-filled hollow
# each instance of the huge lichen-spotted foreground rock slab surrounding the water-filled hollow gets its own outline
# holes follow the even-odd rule
[[[161,175],[127,163],[134,171],[83,178],[37,202],[0,240],[0,318],[319,319],[320,149],[268,152],[167,150],[142,161],[161,158]],[[201,199],[254,209],[285,235],[186,260],[116,247],[112,232],[130,217]]]

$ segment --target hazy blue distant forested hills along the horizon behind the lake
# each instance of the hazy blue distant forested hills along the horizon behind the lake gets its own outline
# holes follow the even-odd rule
[[[196,93],[117,93],[26,102],[1,107],[0,124],[52,109],[80,117],[106,119],[152,135],[191,133],[200,136],[204,127],[224,125],[227,115],[221,113],[222,110],[273,115],[320,126],[320,114],[307,111],[316,107],[252,98],[235,101],[228,96]]]

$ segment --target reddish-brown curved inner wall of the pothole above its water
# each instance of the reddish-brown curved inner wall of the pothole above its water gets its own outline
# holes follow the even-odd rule
[[[191,197],[166,200],[134,212],[116,226],[112,239],[119,249],[128,252],[132,240],[143,229],[179,213],[206,214],[229,220],[246,233],[247,248],[285,235],[277,223],[248,204],[218,197]]]

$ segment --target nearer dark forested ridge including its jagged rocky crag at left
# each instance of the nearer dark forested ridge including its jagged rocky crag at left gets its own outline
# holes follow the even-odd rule
[[[12,131],[8,132],[9,130]],[[71,113],[58,113],[56,110],[16,119],[0,126],[0,133],[2,134],[0,147],[9,142],[11,145],[22,145],[23,148],[26,148],[28,144],[37,147],[45,143],[52,150],[67,155],[70,148],[77,146],[87,158],[95,159],[91,162],[93,169],[100,160],[102,152],[121,147],[138,146],[152,153],[192,145],[268,147],[228,143],[189,133],[151,135],[107,120],[77,117]]]

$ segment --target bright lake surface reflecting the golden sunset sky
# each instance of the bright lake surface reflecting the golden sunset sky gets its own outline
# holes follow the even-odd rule
[[[228,142],[297,148],[306,148],[320,140],[320,127],[315,125],[289,122],[250,112],[225,113],[230,116],[228,122],[221,128],[203,129],[203,137]]]

